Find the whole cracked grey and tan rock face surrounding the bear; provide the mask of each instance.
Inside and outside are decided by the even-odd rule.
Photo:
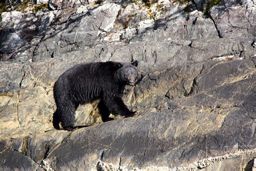
[[[255,2],[37,3],[1,14],[1,170],[255,169]],[[139,61],[138,114],[102,123],[95,101],[54,130],[58,77],[109,60]]]

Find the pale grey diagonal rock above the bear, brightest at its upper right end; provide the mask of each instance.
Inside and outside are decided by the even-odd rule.
[[[73,51],[80,46],[92,46],[98,42],[98,35],[109,32],[120,11],[120,5],[104,4],[90,12],[69,18],[61,30],[46,35],[34,51],[33,61],[53,58]],[[101,18],[101,19],[100,19]]]

